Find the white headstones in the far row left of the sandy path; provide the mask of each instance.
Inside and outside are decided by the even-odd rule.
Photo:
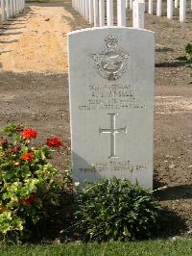
[[[25,8],[25,0],[0,0],[0,16],[1,21],[15,17],[23,12]]]

